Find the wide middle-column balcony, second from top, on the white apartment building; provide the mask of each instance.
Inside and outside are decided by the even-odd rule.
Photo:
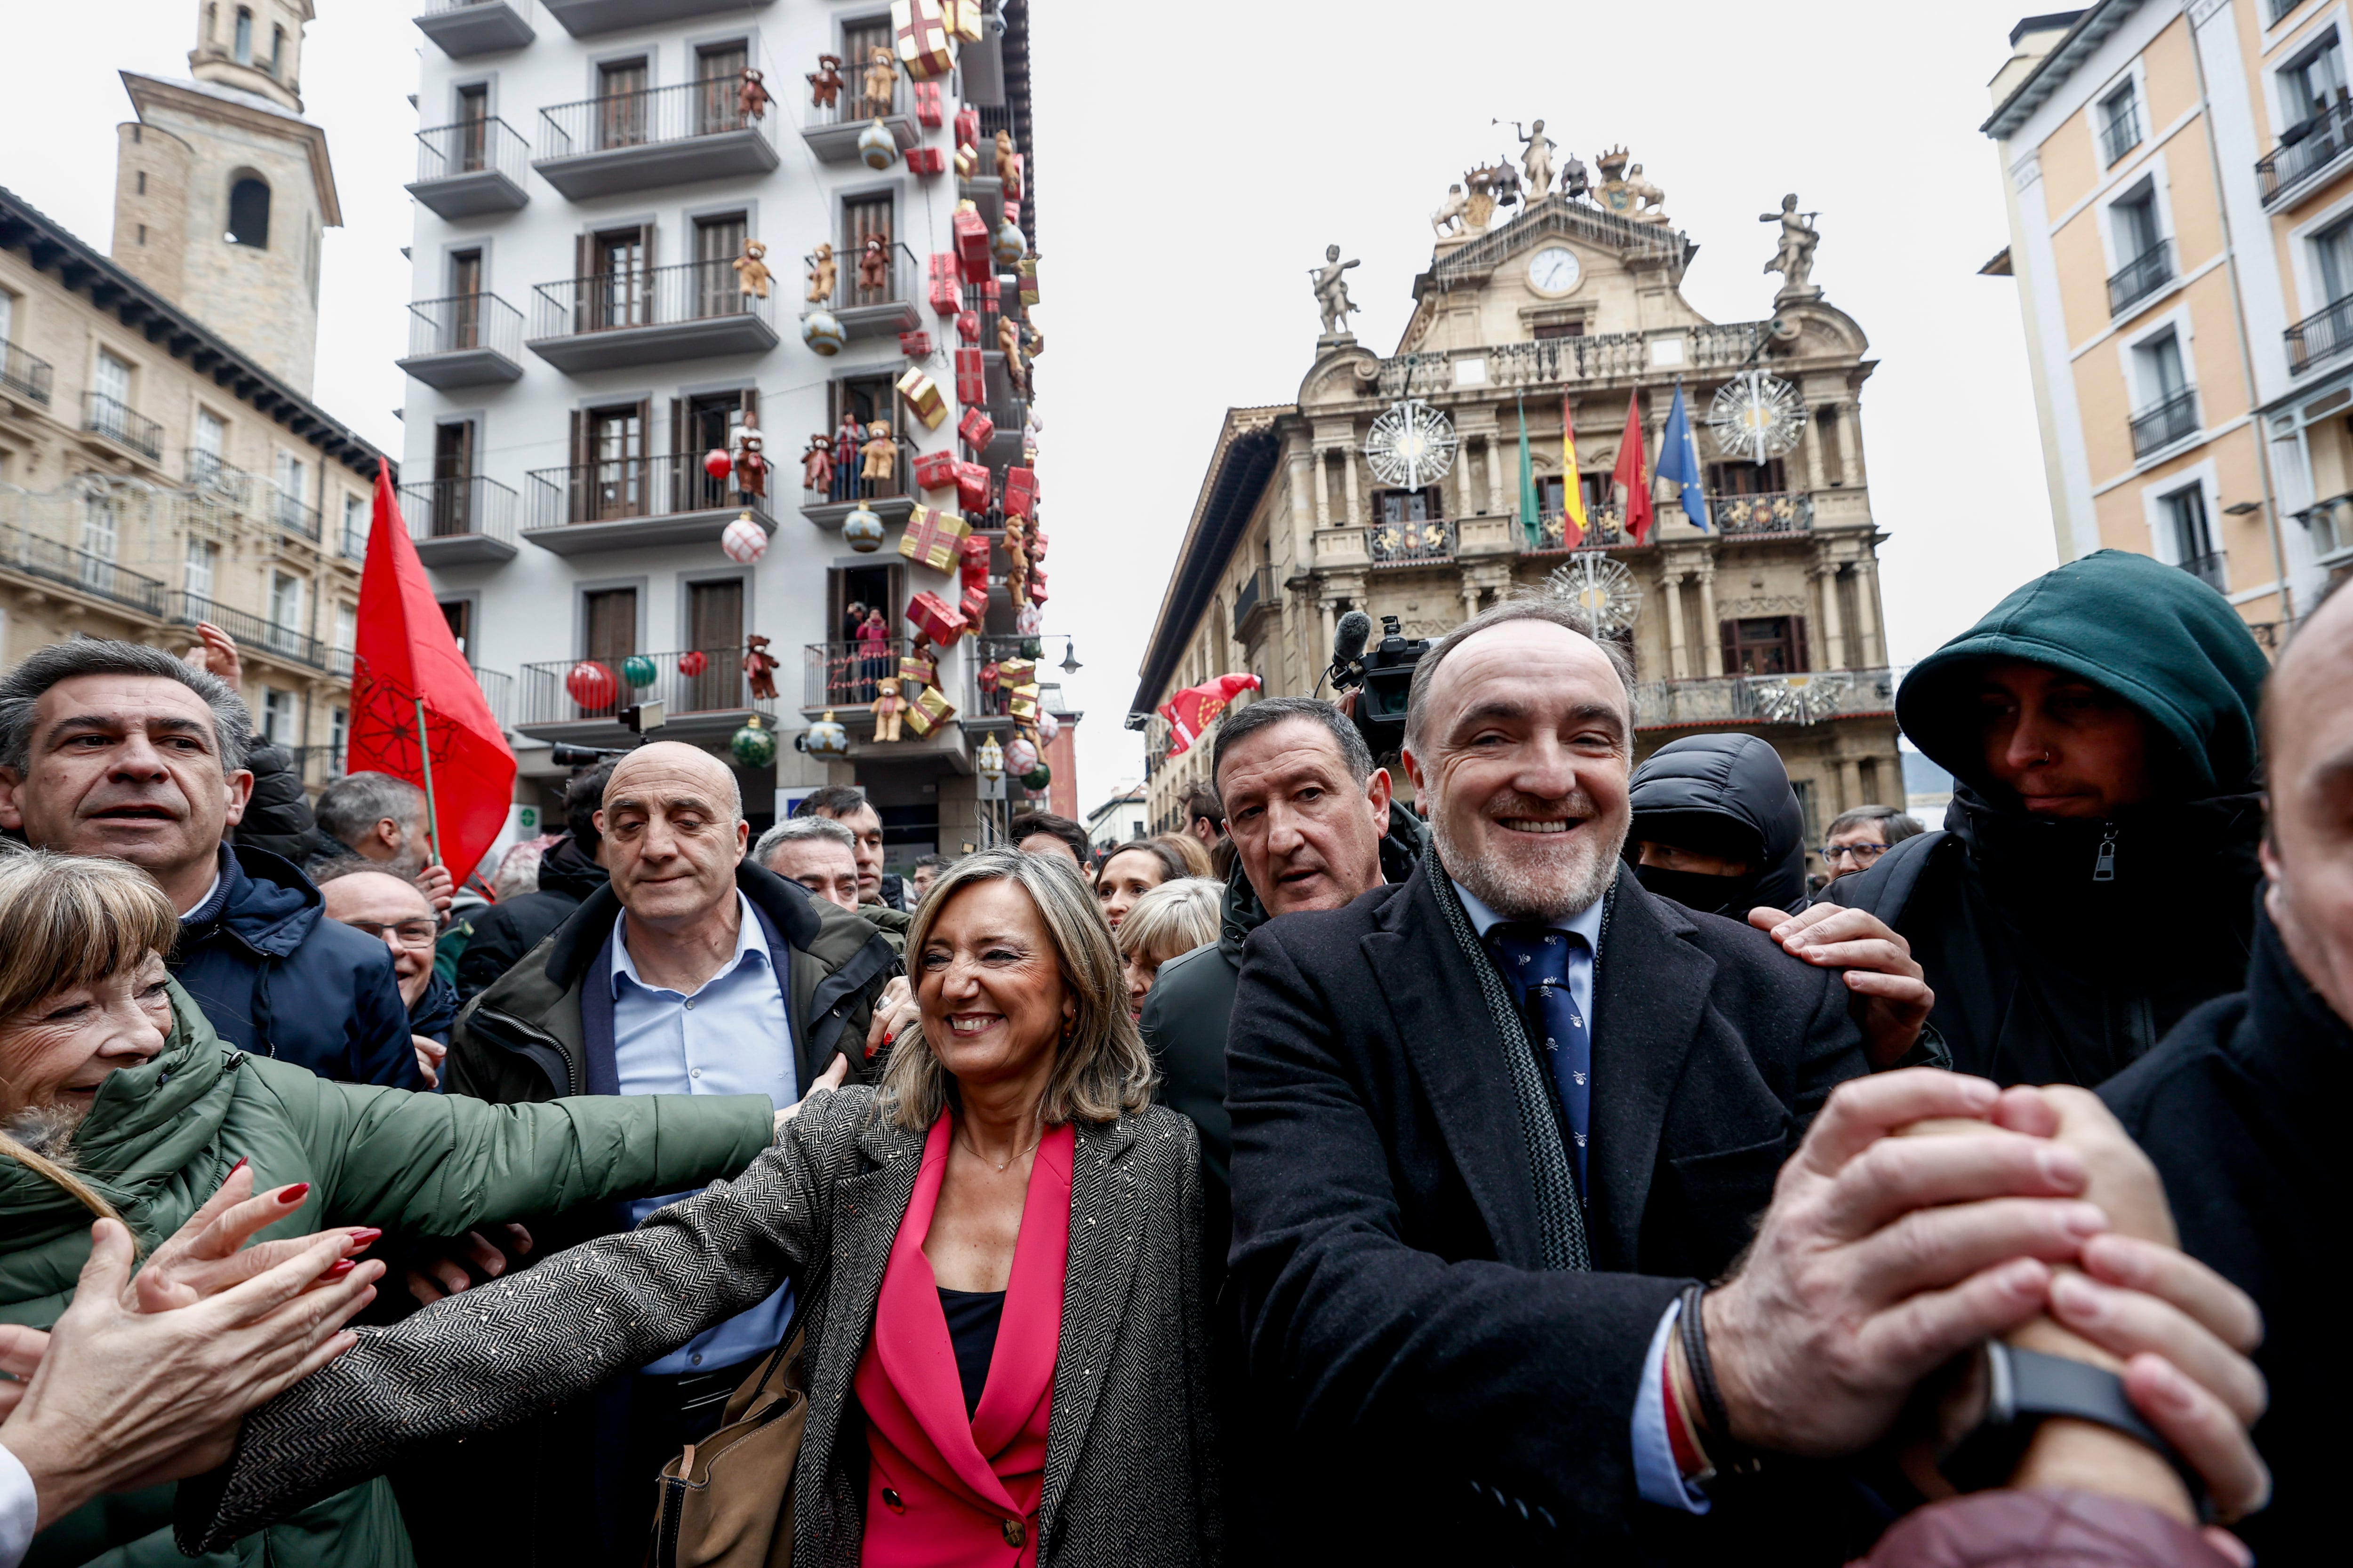
[[[574,202],[767,174],[779,162],[772,120],[746,115],[739,87],[729,73],[541,108],[532,167]]]

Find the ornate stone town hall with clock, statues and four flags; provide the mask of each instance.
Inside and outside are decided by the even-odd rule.
[[[1207,780],[1207,743],[1167,757],[1153,710],[1174,691],[1249,670],[1266,696],[1313,693],[1346,611],[1438,637],[1511,590],[1579,599],[1631,651],[1638,757],[1685,733],[1753,731],[1788,764],[1817,844],[1838,811],[1901,802],[1864,331],[1800,280],[1765,320],[1704,320],[1678,289],[1694,247],[1664,214],[1626,216],[1624,197],[1609,179],[1591,200],[1548,195],[1440,237],[1393,355],[1327,334],[1297,402],[1228,411],[1129,715],[1148,736],[1155,830],[1179,825]],[[1711,527],[1659,487],[1659,522],[1635,543],[1609,470],[1628,400],[1657,463],[1678,383],[1694,423],[1725,390],[1741,428],[1767,433],[1767,458],[1699,428]],[[1452,463],[1400,482],[1400,423],[1424,451],[1452,442]],[[1593,520],[1577,550],[1565,484]]]

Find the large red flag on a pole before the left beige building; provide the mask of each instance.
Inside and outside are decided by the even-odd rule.
[[[433,853],[459,882],[489,853],[515,799],[515,752],[449,635],[386,468],[360,571],[344,766],[421,788]]]

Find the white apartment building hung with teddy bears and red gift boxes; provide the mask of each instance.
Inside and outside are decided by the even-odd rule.
[[[896,71],[887,101],[868,75],[873,52],[894,47],[887,0],[426,0],[416,16],[402,510],[466,654],[515,672],[527,799],[546,804],[567,773],[548,745],[626,745],[621,710],[659,701],[664,738],[722,759],[753,717],[781,731],[772,769],[736,769],[755,827],[779,790],[859,783],[892,865],[974,837],[974,731],[1009,724],[984,712],[976,679],[998,642],[962,639],[941,661],[953,722],[875,741],[871,715],[885,661],[894,672],[913,632],[908,599],[958,602],[953,569],[899,552],[908,515],[929,501],[995,522],[953,489],[918,491],[918,454],[981,461],[995,487],[1024,461],[1026,395],[998,317],[1002,306],[1019,320],[1002,230],[1016,219],[1033,235],[1035,221],[1028,202],[1007,212],[995,134],[1026,165],[1026,0],[974,12],[981,38],[955,45],[955,68],[932,82]],[[826,56],[842,87],[816,103],[807,78]],[[746,71],[772,101],[746,96]],[[955,167],[965,110],[969,176]],[[965,200],[1002,280],[955,280]],[[882,263],[861,273],[871,237]],[[765,299],[744,292],[748,242],[767,249]],[[802,341],[819,244],[838,270],[833,355]],[[986,386],[967,381],[965,400],[960,313],[988,350]],[[908,369],[939,388],[936,428],[896,390]],[[967,407],[991,416],[984,449],[958,437]],[[892,477],[861,480],[852,463],[805,489],[805,447],[833,442],[845,418],[889,423]],[[748,430],[765,444],[765,496],[741,468],[706,470]],[[842,534],[859,510],[887,529],[868,552]],[[720,543],[741,515],[769,536],[755,562]],[[885,611],[885,649],[854,644],[852,604]],[[1012,632],[1002,588],[986,630]],[[746,679],[751,637],[776,661],[774,701]],[[847,731],[842,759],[793,745],[826,712]]]

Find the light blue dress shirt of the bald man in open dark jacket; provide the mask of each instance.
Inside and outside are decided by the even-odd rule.
[[[779,969],[760,938],[760,917],[751,900],[736,893],[736,950],[692,997],[638,978],[628,957],[628,914],[612,926],[612,1056],[626,1095],[767,1095],[776,1110],[800,1100],[793,1065],[793,1020],[784,1004],[788,973]],[[645,1220],[666,1204],[692,1192],[638,1199],[628,1206],[631,1222]],[[645,1366],[647,1373],[675,1375],[734,1366],[767,1354],[784,1340],[793,1319],[793,1288],[718,1328],[687,1340],[680,1349]]]

